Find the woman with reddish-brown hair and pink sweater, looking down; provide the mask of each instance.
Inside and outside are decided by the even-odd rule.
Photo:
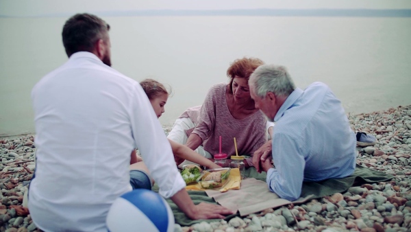
[[[234,60],[227,69],[228,84],[214,84],[201,106],[188,108],[177,119],[168,138],[209,159],[219,153],[220,136],[222,152],[228,156],[236,154],[234,137],[240,155],[253,156],[257,150],[270,152],[270,143],[266,142],[273,123],[268,123],[254,106],[248,84],[251,73],[263,64],[258,58]],[[252,166],[251,158],[245,165]]]

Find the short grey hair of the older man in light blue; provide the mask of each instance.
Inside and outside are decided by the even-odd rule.
[[[295,90],[286,67],[279,65],[261,65],[250,76],[249,86],[258,97],[264,98],[267,93],[288,96]]]

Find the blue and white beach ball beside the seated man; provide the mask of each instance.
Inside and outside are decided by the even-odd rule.
[[[134,189],[114,200],[106,225],[110,232],[174,231],[174,215],[160,194]]]

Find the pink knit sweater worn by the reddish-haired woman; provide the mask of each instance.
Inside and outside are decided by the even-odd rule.
[[[236,137],[239,155],[251,156],[266,142],[266,118],[256,111],[245,119],[235,119],[228,110],[225,91],[227,84],[214,84],[201,106],[197,126],[192,131],[203,139],[203,147],[210,154],[219,153],[219,137],[222,153],[236,155]]]

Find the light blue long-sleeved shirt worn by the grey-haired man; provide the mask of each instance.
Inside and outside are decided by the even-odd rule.
[[[356,137],[340,100],[321,82],[295,89],[274,117],[269,189],[296,200],[303,181],[343,178],[356,168]]]

